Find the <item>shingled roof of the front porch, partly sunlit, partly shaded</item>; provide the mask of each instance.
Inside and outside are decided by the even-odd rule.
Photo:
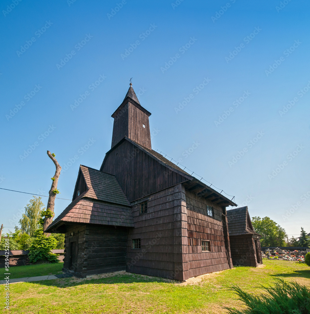
[[[67,223],[133,227],[131,204],[115,176],[80,165],[87,190],[75,198],[46,229],[57,232]]]

